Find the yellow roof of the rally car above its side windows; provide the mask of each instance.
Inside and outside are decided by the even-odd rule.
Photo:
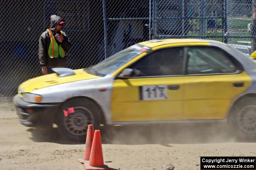
[[[174,44],[174,43],[202,43],[202,42],[206,42],[206,43],[218,43],[218,44],[224,44],[223,42],[219,42],[219,41],[214,41],[214,40],[207,40],[207,39],[154,39],[154,40],[149,40],[149,41],[145,41],[145,42],[140,42],[138,44],[140,45],[145,45],[148,46],[150,48],[159,46],[159,45],[165,45],[165,44]]]

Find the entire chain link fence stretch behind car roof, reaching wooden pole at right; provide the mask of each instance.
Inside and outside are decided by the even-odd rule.
[[[212,39],[251,54],[251,0],[157,0],[155,37]],[[169,7],[169,8],[166,8]]]

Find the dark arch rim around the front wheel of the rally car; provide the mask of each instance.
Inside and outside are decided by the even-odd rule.
[[[96,105],[98,106],[99,113],[100,113],[100,124],[104,124],[104,125],[106,124],[105,116],[104,116],[104,113],[103,113],[103,110],[102,110],[101,106],[100,106],[95,100],[93,100],[93,99],[90,98],[90,97],[86,97],[86,96],[71,97],[71,98],[65,100],[65,101],[58,107],[58,110],[60,110],[60,108],[61,108],[65,103],[67,103],[68,101],[73,100],[73,99],[85,99],[85,100],[89,100],[89,101],[93,102],[94,104],[96,104]],[[55,113],[55,115],[54,115],[54,123],[57,122],[58,110],[56,111],[56,113]]]

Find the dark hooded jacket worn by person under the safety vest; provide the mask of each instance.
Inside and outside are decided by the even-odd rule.
[[[52,31],[52,34],[54,37],[55,37],[54,29],[60,21],[64,21],[64,20],[57,15],[51,16],[50,30]],[[60,32],[58,32],[58,34],[61,35]],[[61,44],[61,47],[64,49],[65,52],[67,52],[71,48],[71,43],[68,41],[68,38],[65,32],[63,32],[63,38],[64,39],[62,40],[62,42],[59,42],[57,39],[56,39],[56,42],[58,43],[58,45]],[[48,31],[43,32],[39,38],[39,51],[38,51],[38,56],[39,56],[39,61],[41,66],[47,66],[47,67],[67,66],[66,56],[63,58],[60,56],[58,58],[50,58],[48,56],[50,41],[51,39]]]

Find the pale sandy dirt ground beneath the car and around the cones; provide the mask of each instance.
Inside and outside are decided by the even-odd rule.
[[[66,142],[56,129],[27,128],[12,103],[0,103],[0,169],[84,169],[84,143]],[[112,169],[199,170],[200,156],[256,156],[255,141],[237,142],[222,125],[115,126],[102,134],[104,163]]]

